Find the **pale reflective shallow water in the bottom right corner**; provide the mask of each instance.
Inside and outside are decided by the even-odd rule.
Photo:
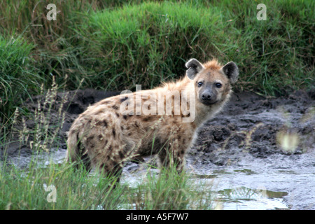
[[[211,182],[222,209],[315,209],[314,153],[265,159],[244,153],[237,165],[209,163],[193,172]]]

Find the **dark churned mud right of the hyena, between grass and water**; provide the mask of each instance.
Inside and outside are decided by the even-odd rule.
[[[304,153],[315,148],[315,100],[304,91],[288,97],[261,97],[253,92],[235,93],[222,113],[200,129],[190,155],[198,162],[228,165],[239,160],[239,152],[253,158],[274,153]],[[293,151],[283,151],[277,134],[297,135]]]

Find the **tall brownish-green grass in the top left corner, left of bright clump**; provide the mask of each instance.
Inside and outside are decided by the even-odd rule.
[[[56,20],[48,20],[48,4],[57,9]],[[18,0],[0,1],[0,34],[6,38],[23,36],[34,45],[32,57],[36,68],[45,77],[45,87],[50,87],[52,76],[57,83],[63,83],[69,74],[69,87],[76,89],[84,77],[94,76],[81,57],[86,51],[86,35],[77,32],[91,11],[113,8],[124,1],[64,1],[64,0]],[[91,87],[88,78],[85,87]],[[39,89],[39,88],[38,88]]]

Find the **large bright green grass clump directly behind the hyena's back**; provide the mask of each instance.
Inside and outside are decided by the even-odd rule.
[[[197,16],[196,16],[197,15]],[[141,3],[89,15],[92,83],[120,90],[141,83],[153,87],[183,74],[189,57],[211,57],[214,34],[221,17],[216,8],[188,3]],[[205,35],[207,34],[207,35]],[[95,78],[95,80],[93,80]]]

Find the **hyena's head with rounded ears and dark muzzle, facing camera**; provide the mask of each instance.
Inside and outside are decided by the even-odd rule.
[[[231,85],[237,81],[239,69],[234,62],[225,66],[212,60],[201,64],[197,59],[190,59],[186,63],[186,74],[193,80],[197,99],[207,106],[224,102],[231,92]]]

